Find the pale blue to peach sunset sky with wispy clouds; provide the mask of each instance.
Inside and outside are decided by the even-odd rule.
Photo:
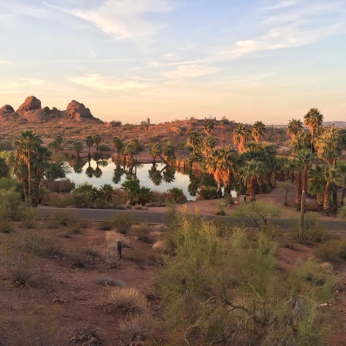
[[[346,121],[346,0],[0,0],[0,107]]]

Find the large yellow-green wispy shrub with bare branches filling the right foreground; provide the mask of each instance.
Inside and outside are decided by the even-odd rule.
[[[164,256],[156,283],[167,324],[189,344],[327,344],[319,304],[335,276],[314,258],[278,268],[270,234],[233,228],[225,237],[207,221],[185,219]]]

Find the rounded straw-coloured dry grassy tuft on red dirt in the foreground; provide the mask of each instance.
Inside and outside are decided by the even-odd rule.
[[[110,301],[123,312],[143,312],[148,307],[147,298],[134,287],[116,287],[110,293]]]

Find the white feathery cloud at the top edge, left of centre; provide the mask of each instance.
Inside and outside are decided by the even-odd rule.
[[[117,40],[134,39],[155,34],[160,25],[145,18],[148,13],[167,12],[175,8],[167,0],[107,0],[92,9],[62,9],[84,19]]]

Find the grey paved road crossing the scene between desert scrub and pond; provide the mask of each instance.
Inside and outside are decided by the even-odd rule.
[[[167,224],[166,213],[163,212],[152,212],[149,210],[116,210],[116,209],[77,209],[77,208],[38,208],[39,217],[50,218],[55,213],[68,213],[71,219],[77,220],[92,220],[92,221],[104,221],[109,220],[112,217],[122,214],[129,213],[138,222],[151,223],[151,224]],[[224,216],[206,216],[207,219],[220,218],[227,220]],[[230,219],[232,220],[232,219]],[[297,226],[298,220],[281,220],[279,225],[283,230],[293,230]],[[342,220],[326,220],[323,221],[326,225],[326,229],[346,232],[346,221]]]

